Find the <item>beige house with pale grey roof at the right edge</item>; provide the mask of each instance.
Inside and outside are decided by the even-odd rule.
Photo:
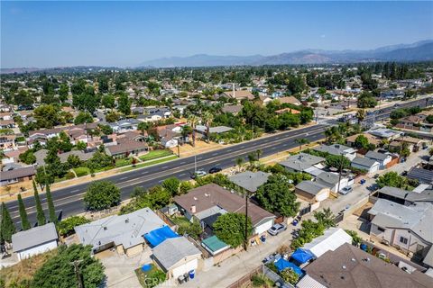
[[[378,199],[368,211],[371,220],[370,237],[397,247],[419,260],[427,255],[428,266],[433,267],[433,205],[417,202],[405,206],[385,199]]]

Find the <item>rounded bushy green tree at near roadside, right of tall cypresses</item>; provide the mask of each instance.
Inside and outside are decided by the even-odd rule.
[[[120,203],[120,190],[109,181],[97,181],[88,185],[84,202],[90,211],[101,211]]]

